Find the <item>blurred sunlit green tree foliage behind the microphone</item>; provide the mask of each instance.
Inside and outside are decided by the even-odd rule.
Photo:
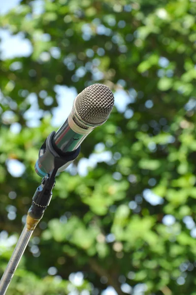
[[[33,167],[53,130],[55,85],[80,92],[103,83],[118,100],[57,178],[7,295],[98,295],[107,286],[119,295],[196,294],[195,16],[195,0],[23,0],[0,17],[33,47],[0,63],[1,274],[41,180]],[[30,93],[42,110],[37,127],[25,117]],[[110,160],[74,172],[103,151]],[[25,165],[22,177],[10,175],[10,159]]]

